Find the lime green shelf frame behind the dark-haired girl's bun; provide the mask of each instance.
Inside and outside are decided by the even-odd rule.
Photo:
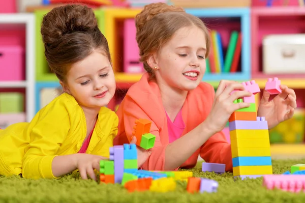
[[[37,81],[58,81],[56,75],[50,70],[45,57],[45,48],[42,42],[41,36],[41,23],[43,16],[47,14],[50,10],[41,9],[35,11],[35,60],[36,60],[36,80]],[[103,34],[105,34],[105,12],[103,10],[94,10],[98,26]]]

